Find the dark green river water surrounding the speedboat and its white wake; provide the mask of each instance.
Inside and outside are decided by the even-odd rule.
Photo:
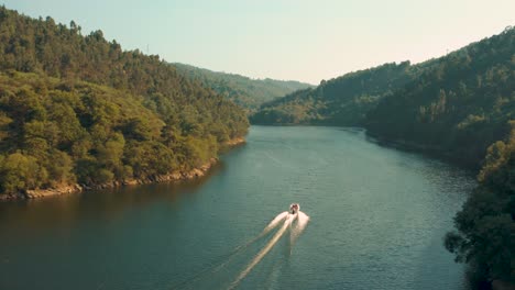
[[[202,180],[0,204],[0,289],[465,289],[442,247],[473,178],[359,131],[254,126]]]

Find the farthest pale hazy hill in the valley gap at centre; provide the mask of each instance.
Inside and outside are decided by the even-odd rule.
[[[251,79],[234,74],[217,72],[184,64],[174,64],[177,71],[190,80],[200,81],[219,94],[228,98],[248,112],[253,112],[267,101],[284,97],[296,90],[313,87],[294,80]]]

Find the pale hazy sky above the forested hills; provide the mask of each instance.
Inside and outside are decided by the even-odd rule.
[[[253,78],[318,83],[413,63],[515,25],[515,0],[0,0],[30,16],[75,20],[123,48]]]

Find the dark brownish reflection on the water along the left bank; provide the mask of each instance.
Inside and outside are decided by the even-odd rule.
[[[211,176],[224,170],[217,163],[204,176],[176,182],[128,186],[83,193],[48,197],[0,203],[0,220],[9,221],[11,228],[30,228],[28,233],[44,232],[55,227],[69,227],[88,219],[116,220],[125,210],[136,210],[156,202],[177,204],[179,197],[195,194]],[[0,224],[1,225],[1,224]],[[0,226],[1,228],[1,226]]]

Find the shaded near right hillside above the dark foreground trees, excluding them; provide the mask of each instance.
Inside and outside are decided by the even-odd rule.
[[[369,112],[369,133],[479,165],[515,115],[515,30],[436,59]]]

